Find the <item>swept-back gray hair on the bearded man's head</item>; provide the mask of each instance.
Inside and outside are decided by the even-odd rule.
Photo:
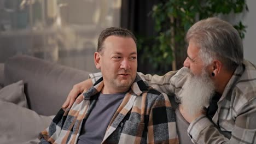
[[[214,58],[224,67],[234,70],[243,62],[243,45],[240,35],[230,23],[217,17],[196,22],[189,28],[186,41],[199,46],[199,56],[210,64]]]

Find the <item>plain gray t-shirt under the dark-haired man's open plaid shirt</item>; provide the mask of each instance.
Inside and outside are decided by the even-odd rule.
[[[101,93],[98,96],[94,109],[92,109],[82,128],[82,133],[78,137],[78,144],[102,142],[108,124],[123,101],[125,93]]]

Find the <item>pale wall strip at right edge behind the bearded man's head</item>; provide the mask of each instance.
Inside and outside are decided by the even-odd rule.
[[[246,14],[243,22],[247,26],[245,39],[243,39],[243,51],[245,59],[256,64],[256,1],[247,0],[249,13]]]

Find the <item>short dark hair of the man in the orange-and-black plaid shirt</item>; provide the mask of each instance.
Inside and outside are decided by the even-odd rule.
[[[101,32],[100,37],[98,37],[97,52],[102,52],[104,40],[110,35],[116,35],[116,36],[125,37],[125,38],[132,38],[136,44],[135,35],[128,29],[121,28],[121,27],[109,27],[104,29],[104,31]]]

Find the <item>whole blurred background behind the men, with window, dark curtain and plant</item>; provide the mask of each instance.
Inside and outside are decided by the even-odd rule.
[[[98,35],[124,27],[138,40],[138,71],[165,74],[182,67],[188,28],[209,16],[232,23],[245,58],[256,63],[255,6],[254,0],[0,0],[0,63],[24,54],[96,72]]]

